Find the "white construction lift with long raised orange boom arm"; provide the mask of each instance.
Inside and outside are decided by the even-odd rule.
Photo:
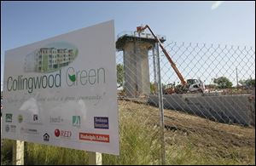
[[[159,43],[160,48],[162,49],[163,53],[166,55],[167,60],[170,62],[174,72],[176,72],[177,77],[180,79],[181,84],[175,86],[173,84],[169,84],[171,86],[167,86],[166,89],[164,89],[164,94],[186,94],[186,93],[204,93],[205,91],[205,85],[200,79],[188,79],[187,82],[183,78],[183,75],[178,71],[177,66],[171,59],[170,55],[167,53],[166,49],[160,42],[160,39],[156,37],[154,32],[151,30],[151,28],[146,25],[146,26],[137,26],[137,32],[141,33],[145,29],[147,29],[151,32],[151,34],[154,36],[154,39],[157,43]]]

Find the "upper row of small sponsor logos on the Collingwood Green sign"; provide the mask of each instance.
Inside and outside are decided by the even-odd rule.
[[[17,120],[19,123],[23,122],[23,116],[18,115]],[[38,122],[38,115],[34,114],[32,116],[33,122]],[[62,124],[64,119],[61,116],[58,117],[49,117],[49,123],[52,124]],[[13,122],[13,114],[7,113],[5,115],[5,122],[12,123]],[[72,117],[72,125],[73,127],[80,128],[81,125],[81,117],[80,116],[73,116]],[[108,126],[108,117],[94,117],[94,128],[95,129],[109,129]]]

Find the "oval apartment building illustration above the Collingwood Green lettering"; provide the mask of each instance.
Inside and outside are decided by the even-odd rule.
[[[60,45],[60,44],[59,44]],[[67,43],[65,44],[67,45]],[[70,44],[64,47],[44,47],[26,55],[25,72],[55,72],[68,66],[78,55],[78,49]]]

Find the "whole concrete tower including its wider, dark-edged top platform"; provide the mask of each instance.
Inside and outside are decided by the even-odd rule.
[[[158,36],[160,42],[166,37]],[[118,36],[116,49],[123,51],[125,94],[129,97],[150,94],[148,50],[154,49],[155,39],[148,33],[125,32]]]

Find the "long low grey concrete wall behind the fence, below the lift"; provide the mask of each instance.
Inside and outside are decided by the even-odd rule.
[[[255,125],[255,101],[250,94],[167,94],[164,107],[181,112],[189,112],[220,123]],[[158,96],[151,95],[148,102],[158,106]]]

